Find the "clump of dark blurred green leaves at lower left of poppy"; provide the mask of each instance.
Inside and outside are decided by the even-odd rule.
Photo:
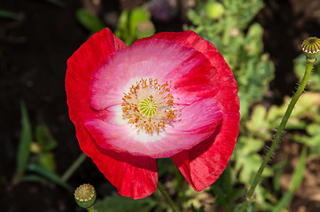
[[[31,123],[27,115],[27,107],[24,102],[21,108],[21,134],[19,150],[17,154],[16,171],[13,175],[12,184],[21,181],[31,181],[48,184],[50,180],[72,192],[71,186],[66,184],[56,173],[56,161],[52,151],[57,147],[55,140],[47,125],[35,126],[35,141]]]

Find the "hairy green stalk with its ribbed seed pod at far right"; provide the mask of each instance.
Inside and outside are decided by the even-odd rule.
[[[309,79],[309,77],[311,75],[313,65],[316,63],[316,56],[318,55],[318,52],[320,50],[320,46],[318,45],[319,41],[320,41],[320,39],[312,37],[312,38],[308,38],[307,40],[305,40],[302,43],[301,47],[302,47],[302,49],[303,49],[303,51],[304,51],[304,53],[305,53],[305,55],[307,57],[306,58],[306,60],[307,60],[306,71],[304,73],[303,78],[301,79],[300,87],[297,89],[297,92],[293,95],[293,98],[292,98],[291,102],[289,103],[289,105],[288,105],[288,107],[287,107],[287,109],[285,111],[285,116],[281,120],[281,123],[279,125],[278,130],[277,130],[277,133],[276,133],[276,135],[275,135],[275,137],[274,137],[274,139],[272,141],[272,145],[269,148],[269,151],[268,151],[267,155],[265,155],[258,172],[254,176],[254,181],[253,181],[248,193],[246,194],[246,199],[245,199],[245,202],[243,203],[242,207],[240,208],[240,212],[246,211],[248,203],[251,201],[252,197],[254,196],[255,188],[261,182],[262,172],[266,168],[266,166],[268,165],[271,156],[274,154],[274,152],[275,152],[275,150],[277,148],[277,144],[279,143],[279,140],[281,138],[281,135],[285,131],[285,125],[288,122],[289,117],[291,116],[291,113],[292,113],[292,111],[294,109],[294,106],[298,102],[298,100],[300,98],[300,95],[303,93],[305,87],[308,84],[308,79]],[[308,43],[308,48],[307,49],[305,48],[306,47],[306,43]],[[313,49],[313,50],[312,51],[308,50],[310,48]]]

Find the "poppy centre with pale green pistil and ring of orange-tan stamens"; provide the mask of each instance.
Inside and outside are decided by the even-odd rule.
[[[137,133],[160,133],[175,122],[177,110],[168,82],[160,85],[158,79],[140,79],[123,94],[122,117],[137,128]]]

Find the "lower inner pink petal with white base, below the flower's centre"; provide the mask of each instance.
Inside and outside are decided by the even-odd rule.
[[[91,137],[99,148],[152,158],[168,157],[192,148],[214,133],[222,120],[217,102],[207,99],[183,107],[183,118],[173,125],[167,125],[164,132],[137,133],[134,125],[119,121],[121,110],[117,108],[108,111],[107,117],[92,118],[85,122]]]

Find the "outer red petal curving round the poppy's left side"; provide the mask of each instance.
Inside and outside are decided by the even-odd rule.
[[[158,173],[155,160],[98,149],[83,125],[88,117],[98,114],[90,109],[89,104],[92,72],[108,55],[122,48],[126,48],[124,42],[107,28],[92,35],[67,61],[66,96],[69,116],[75,125],[82,151],[92,158],[121,195],[138,199],[150,195],[156,189]]]

